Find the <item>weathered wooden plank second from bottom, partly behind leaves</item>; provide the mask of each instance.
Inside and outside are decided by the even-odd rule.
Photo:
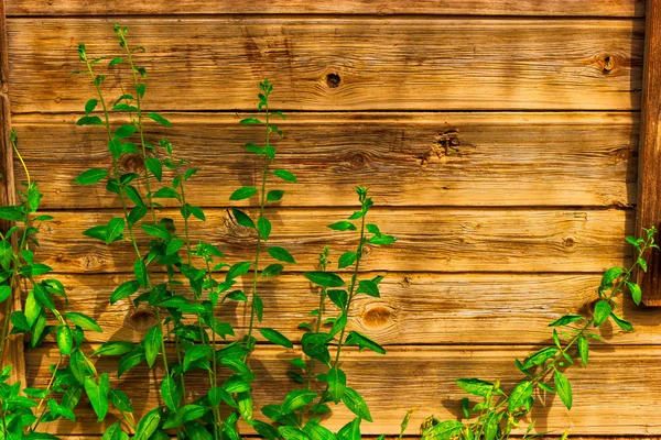
[[[371,278],[377,274],[366,274]],[[136,309],[129,300],[110,306],[108,298],[130,275],[59,275],[69,298],[69,309],[94,317],[104,333],[87,332],[89,342],[122,339],[139,342],[154,322],[148,308]],[[247,280],[248,282],[248,280]],[[548,324],[562,315],[583,309],[596,297],[600,275],[432,275],[390,273],[380,284],[381,298],[358,297],[349,327],[381,344],[530,344],[550,338]],[[250,283],[247,283],[250,284]],[[236,288],[250,292],[239,280]],[[300,322],[318,307],[318,292],[302,275],[283,275],[260,282],[264,302],[263,326],[299,341]],[[237,336],[248,322],[242,305],[228,301],[217,316],[230,322]],[[328,302],[329,316],[335,307]],[[64,309],[64,304],[62,301]],[[602,334],[618,344],[661,344],[661,323],[654,309],[624,301],[635,332],[605,326]],[[258,334],[259,337],[259,334]]]

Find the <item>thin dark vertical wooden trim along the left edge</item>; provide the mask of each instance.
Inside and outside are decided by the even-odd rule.
[[[13,152],[10,142],[11,109],[9,105],[9,58],[7,54],[7,19],[4,0],[0,0],[0,205],[15,204],[15,186],[13,174]],[[7,230],[8,224],[0,223],[0,228]],[[12,310],[21,308],[21,295],[13,295]],[[4,319],[0,310],[0,319]],[[8,317],[7,317],[8,318]],[[12,364],[11,381],[21,381],[25,384],[25,358],[23,353],[23,338],[13,336],[7,341],[2,365]]]

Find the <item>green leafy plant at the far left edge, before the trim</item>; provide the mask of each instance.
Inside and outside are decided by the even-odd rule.
[[[106,417],[109,403],[115,405],[128,425],[132,425],[131,404],[121,391],[110,387],[107,373],[98,373],[82,343],[85,331],[100,332],[99,324],[89,316],[76,311],[62,311],[54,296],[61,296],[68,308],[63,284],[47,277],[53,270],[35,261],[39,248],[39,224],[53,220],[52,216],[37,215],[42,195],[17,146],[18,136],[11,132],[11,143],[20,160],[28,182],[25,191],[19,193],[19,204],[0,208],[0,218],[15,223],[6,234],[0,234],[0,302],[4,302],[6,317],[9,317],[12,295],[15,290],[28,292],[24,310],[11,314],[2,323],[0,359],[9,334],[22,333],[30,337],[30,344],[39,346],[51,333],[59,349],[59,358],[51,365],[51,378],[46,388],[25,388],[21,394],[20,383],[9,384],[11,365],[0,373],[0,438],[4,439],[48,439],[55,438],[37,428],[42,422],[58,418],[75,420],[74,409],[85,394],[101,421]],[[12,243],[13,240],[13,243]],[[14,244],[15,243],[15,244]],[[56,324],[48,324],[54,318]],[[9,332],[10,321],[12,324]],[[63,365],[68,363],[68,366]],[[55,393],[61,393],[59,398]]]

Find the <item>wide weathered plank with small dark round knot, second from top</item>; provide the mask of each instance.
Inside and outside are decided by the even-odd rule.
[[[253,109],[275,82],[283,110],[631,110],[639,108],[640,20],[408,18],[127,19],[148,48],[145,106]],[[173,37],[176,35],[176,37]],[[91,97],[76,45],[121,54],[100,19],[11,19],[14,112],[78,111]],[[119,69],[119,67],[117,67]],[[121,75],[106,86],[120,94]],[[174,92],[176,91],[176,92]]]

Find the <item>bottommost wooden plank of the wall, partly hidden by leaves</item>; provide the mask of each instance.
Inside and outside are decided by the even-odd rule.
[[[532,349],[532,348],[530,348]],[[513,364],[516,356],[529,353],[528,348],[489,346],[392,346],[387,355],[368,352],[347,352],[343,358],[343,370],[347,372],[348,385],[361,393],[375,418],[373,424],[362,424],[364,433],[394,435],[408,407],[418,407],[408,432],[414,435],[421,420],[434,414],[440,418],[456,418],[460,414],[460,398],[465,395],[455,385],[458,377],[501,378],[505,386],[521,380]],[[29,356],[28,377],[34,386],[45,386],[48,380],[48,360],[55,361],[57,349],[40,349]],[[260,348],[254,354],[252,366],[261,377],[254,384],[254,399],[259,407],[275,403],[293,386],[285,377],[289,360],[299,355],[295,350]],[[560,435],[572,427],[575,435],[659,435],[661,421],[658,406],[661,405],[661,348],[611,346],[593,344],[587,369],[574,366],[566,370],[574,391],[574,406],[564,409],[555,396],[543,396],[545,405],[533,410],[539,431],[554,430]],[[156,363],[160,365],[160,362]],[[112,371],[113,361],[100,360],[100,371]],[[206,377],[206,376],[204,376]],[[201,393],[207,387],[199,380],[186,383],[186,389]],[[150,381],[151,387],[136,387],[136,381]],[[130,393],[137,414],[156,404],[153,373],[137,367],[121,380],[119,386]],[[626,402],[626,405],[622,403]],[[104,424],[85,405],[80,407],[77,425],[62,422],[51,425],[53,432],[99,432],[112,422],[109,417]],[[257,413],[259,414],[259,413]],[[261,415],[260,415],[261,416]],[[339,428],[349,418],[348,411],[338,408],[327,420],[332,428]]]

